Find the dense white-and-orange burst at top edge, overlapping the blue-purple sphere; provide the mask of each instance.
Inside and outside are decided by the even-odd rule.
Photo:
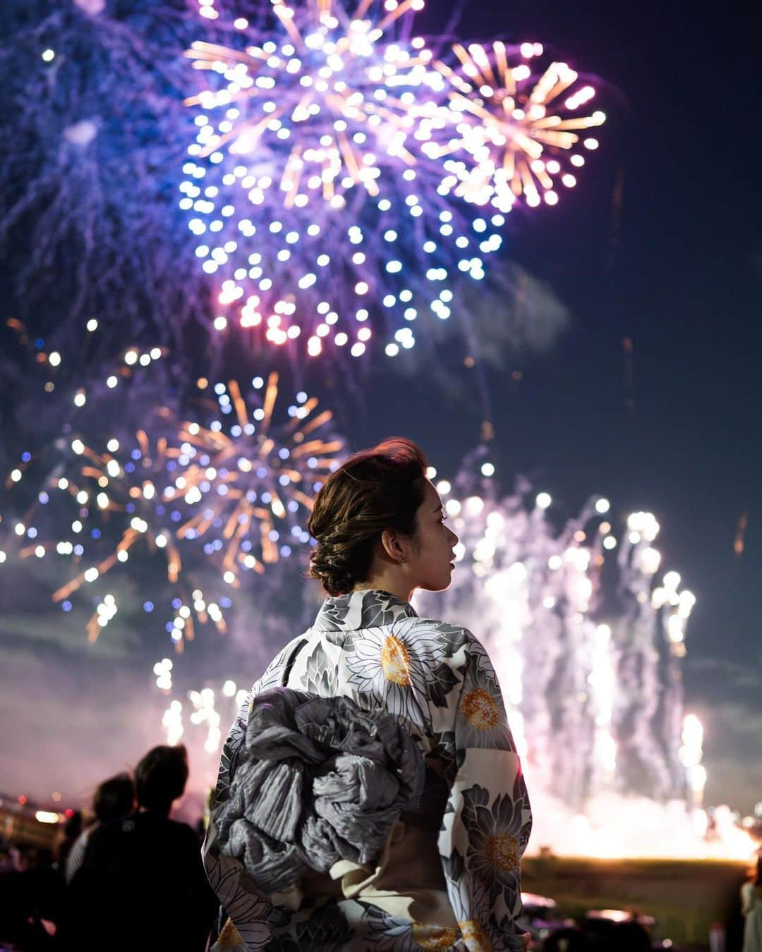
[[[274,147],[283,156],[276,188],[285,208],[303,208],[314,196],[343,208],[355,186],[377,196],[382,166],[415,164],[406,145],[415,126],[410,90],[436,79],[422,40],[412,41],[412,52],[396,44],[376,49],[422,0],[394,5],[374,22],[366,14],[375,6],[364,0],[350,16],[331,0],[296,8],[279,0],[272,11],[286,40],[280,46],[270,40],[239,51],[194,43],[186,54],[193,65],[220,72],[229,84],[186,100],[227,107],[217,129],[200,124],[197,154],[227,148],[245,157],[263,144]]]

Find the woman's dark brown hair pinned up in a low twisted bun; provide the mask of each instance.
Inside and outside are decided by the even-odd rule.
[[[426,492],[426,456],[420,446],[392,437],[354,453],[315,496],[310,518],[317,545],[310,576],[329,595],[342,595],[371,571],[384,529],[415,534],[415,513]]]

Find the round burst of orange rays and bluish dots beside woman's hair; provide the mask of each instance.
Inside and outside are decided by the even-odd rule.
[[[267,384],[255,377],[246,396],[235,381],[213,390],[219,416],[181,427],[181,469],[164,497],[187,516],[178,538],[203,540],[225,581],[239,585],[241,570],[262,572],[309,544],[311,494],[338,466],[343,442],[326,433],[331,411],[317,412],[304,392],[278,418],[276,373]]]

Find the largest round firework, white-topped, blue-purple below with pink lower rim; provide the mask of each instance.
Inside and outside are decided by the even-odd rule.
[[[423,4],[379,6],[277,3],[245,50],[189,51],[220,87],[188,100],[198,133],[180,184],[218,329],[232,314],[312,357],[329,343],[359,357],[381,336],[394,356],[501,246],[502,214],[475,217],[439,188],[421,148],[450,114],[431,51],[408,39]]]

